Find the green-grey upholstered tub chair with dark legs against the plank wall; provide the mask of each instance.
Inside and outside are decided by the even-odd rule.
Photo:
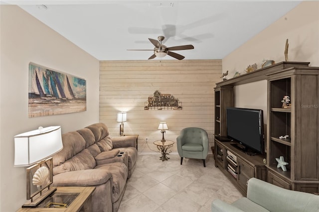
[[[209,143],[207,132],[198,127],[187,127],[180,131],[177,141],[177,151],[180,156],[180,165],[183,158],[202,159],[204,167],[208,154]]]

